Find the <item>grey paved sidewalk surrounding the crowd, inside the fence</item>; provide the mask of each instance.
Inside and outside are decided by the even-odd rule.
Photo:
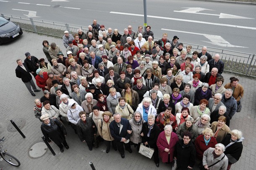
[[[68,136],[66,137],[70,149],[64,149],[61,153],[55,144],[51,144],[56,155],[53,156],[48,150],[39,159],[31,159],[28,156],[29,147],[37,141],[42,141],[40,121],[34,117],[34,99],[41,98],[42,91],[36,93],[36,97],[30,95],[24,83],[15,75],[17,67],[16,59],[24,61],[25,52],[38,59],[46,58],[42,51],[42,41],[48,40],[55,42],[65,52],[62,39],[55,39],[50,36],[40,36],[24,31],[20,39],[0,46],[2,54],[1,72],[1,92],[0,92],[0,137],[7,138],[3,142],[3,149],[8,149],[8,153],[20,160],[20,167],[13,167],[5,161],[0,161],[0,168],[3,170],[90,170],[89,162],[92,161],[97,170],[147,170],[158,169],[152,160],[136,152],[132,147],[133,153],[125,152],[125,159],[120,157],[119,152],[111,149],[108,154],[105,152],[105,145],[93,148],[89,151],[86,144],[81,143],[77,135],[74,134],[70,126],[66,125]],[[4,57],[5,56],[5,57]],[[230,73],[223,74],[225,83],[229,82],[229,77],[236,76]],[[256,90],[255,79],[248,77],[238,77],[239,83],[245,88],[243,108],[240,113],[236,113],[230,122],[230,129],[240,129],[243,131],[245,140],[243,142],[243,153],[240,160],[232,165],[232,170],[252,170],[256,167]],[[26,125],[21,130],[26,135],[23,139],[18,132],[7,130],[11,119],[25,118]],[[170,165],[160,162],[161,170],[170,170]]]

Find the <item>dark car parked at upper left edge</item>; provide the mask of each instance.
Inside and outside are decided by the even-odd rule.
[[[13,41],[23,33],[21,27],[10,21],[10,18],[5,19],[0,17],[0,45]]]

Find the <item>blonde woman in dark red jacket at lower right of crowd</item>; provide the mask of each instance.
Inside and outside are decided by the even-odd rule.
[[[202,134],[200,134],[195,141],[195,147],[196,147],[196,163],[199,164],[200,167],[202,167],[202,160],[204,151],[210,147],[214,147],[217,144],[217,141],[214,137],[212,137],[213,132],[210,128],[205,128],[202,131]]]

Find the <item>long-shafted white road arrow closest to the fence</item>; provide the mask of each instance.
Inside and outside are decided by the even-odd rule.
[[[172,29],[165,29],[165,28],[162,28],[161,30],[201,35],[201,36],[204,36],[204,37],[206,37],[207,39],[210,40],[210,41],[203,41],[203,42],[214,44],[214,45],[217,45],[217,46],[248,48],[246,46],[232,45],[228,41],[223,39],[221,36],[217,36],[217,35],[210,35],[210,34],[205,34],[205,33],[193,33],[193,32],[179,31],[179,30],[172,30]]]

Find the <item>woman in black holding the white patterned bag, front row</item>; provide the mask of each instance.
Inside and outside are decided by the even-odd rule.
[[[160,133],[160,129],[157,126],[157,124],[155,124],[154,122],[155,122],[155,115],[152,115],[152,114],[146,115],[146,122],[142,126],[141,136],[142,136],[142,142],[146,147],[154,148],[154,154],[153,154],[154,162],[156,166],[159,167],[157,137]]]

